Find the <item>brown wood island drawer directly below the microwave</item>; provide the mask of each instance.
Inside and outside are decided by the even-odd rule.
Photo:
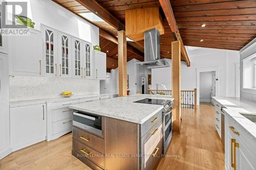
[[[73,138],[101,153],[104,153],[104,139],[98,136],[73,127]]]

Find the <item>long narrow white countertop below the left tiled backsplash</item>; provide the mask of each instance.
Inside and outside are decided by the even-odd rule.
[[[44,103],[56,103],[56,102],[88,99],[88,98],[97,98],[97,97],[105,96],[105,95],[110,95],[110,94],[84,94],[84,95],[73,95],[70,98],[63,98],[62,96],[59,96],[57,98],[12,101],[12,102],[10,102],[10,107],[19,107],[19,106],[37,105],[37,104],[44,104]]]

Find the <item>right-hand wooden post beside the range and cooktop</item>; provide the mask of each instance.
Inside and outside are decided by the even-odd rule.
[[[181,129],[181,88],[180,88],[181,43],[172,42],[172,85],[173,85],[173,130],[180,133]]]

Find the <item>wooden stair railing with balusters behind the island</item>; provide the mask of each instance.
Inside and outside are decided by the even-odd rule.
[[[172,95],[172,90],[153,90],[148,89],[148,94]],[[197,89],[181,90],[181,107],[183,108],[197,108]]]

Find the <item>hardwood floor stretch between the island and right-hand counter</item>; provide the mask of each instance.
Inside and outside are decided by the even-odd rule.
[[[173,133],[168,157],[161,159],[157,169],[225,169],[221,139],[214,127],[214,106],[202,103],[196,111],[182,108],[181,117],[181,133]]]

